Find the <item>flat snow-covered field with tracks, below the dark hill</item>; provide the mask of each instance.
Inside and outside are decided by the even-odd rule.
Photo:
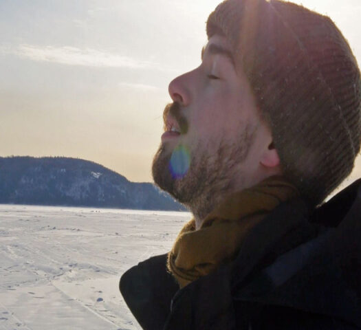
[[[185,212],[0,205],[0,329],[140,329],[120,275],[167,252]]]

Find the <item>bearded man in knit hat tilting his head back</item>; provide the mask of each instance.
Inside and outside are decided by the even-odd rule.
[[[361,329],[360,70],[328,17],[226,0],[169,85],[153,162],[188,206],[167,255],[120,290],[144,329]]]

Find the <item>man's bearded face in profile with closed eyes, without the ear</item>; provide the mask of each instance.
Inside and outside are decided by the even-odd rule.
[[[165,133],[153,160],[153,178],[182,203],[247,184],[256,166],[261,120],[230,45],[212,36],[199,67],[169,85]],[[245,188],[245,187],[244,187]]]

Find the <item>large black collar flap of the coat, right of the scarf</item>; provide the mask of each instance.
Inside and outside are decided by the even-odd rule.
[[[361,179],[311,214],[319,235],[278,256],[236,299],[338,317],[361,327]]]

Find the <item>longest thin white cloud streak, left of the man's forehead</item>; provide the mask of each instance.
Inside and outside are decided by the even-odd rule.
[[[9,52],[9,51],[8,51]],[[131,57],[101,52],[87,48],[55,47],[37,45],[19,45],[16,50],[10,51],[21,58],[32,61],[61,63],[65,65],[83,65],[88,67],[125,67],[130,69],[157,68],[158,63],[139,61]]]

